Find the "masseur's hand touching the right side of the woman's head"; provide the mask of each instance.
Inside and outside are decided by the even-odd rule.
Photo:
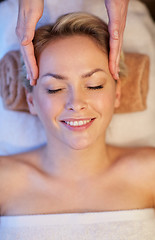
[[[119,60],[129,0],[105,0],[109,16],[110,33],[109,69],[114,79],[119,79]]]

